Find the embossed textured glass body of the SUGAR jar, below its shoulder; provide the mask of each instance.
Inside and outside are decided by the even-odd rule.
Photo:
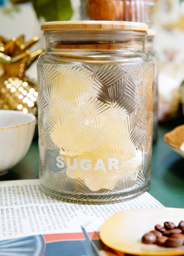
[[[83,203],[121,201],[146,190],[152,87],[152,63],[38,63],[42,189]]]

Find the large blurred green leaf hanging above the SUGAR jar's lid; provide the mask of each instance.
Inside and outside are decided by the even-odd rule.
[[[32,0],[38,18],[46,21],[70,20],[73,10],[70,0]]]

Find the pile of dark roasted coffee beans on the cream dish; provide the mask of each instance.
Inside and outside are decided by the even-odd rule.
[[[142,236],[142,243],[157,244],[165,247],[178,247],[184,244],[184,221],[178,226],[173,222],[166,221],[164,226],[155,225],[155,229]]]

